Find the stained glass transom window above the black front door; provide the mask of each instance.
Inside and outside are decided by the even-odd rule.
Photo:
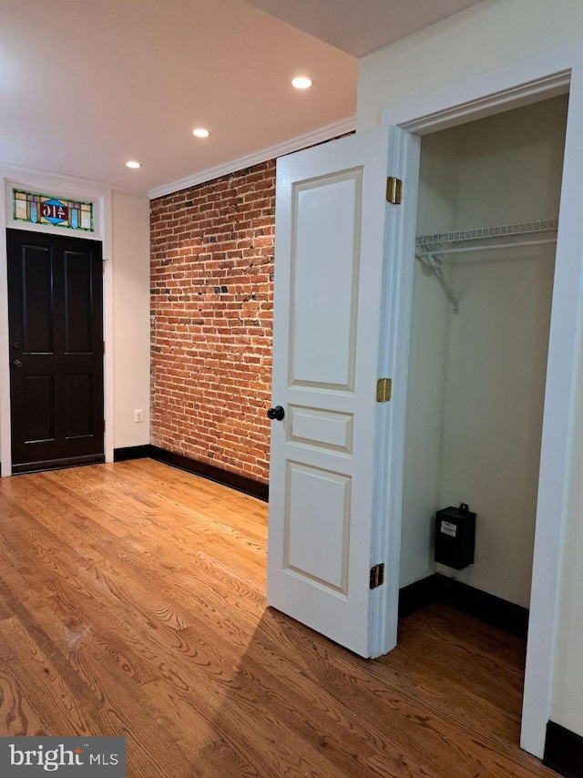
[[[69,230],[93,231],[93,203],[13,189],[13,216],[31,224],[53,224]]]

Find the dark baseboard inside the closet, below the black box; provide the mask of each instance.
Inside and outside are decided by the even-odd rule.
[[[444,605],[485,621],[498,630],[517,635],[523,640],[527,638],[527,608],[439,573],[416,581],[399,591],[399,618],[409,616],[432,602],[443,602]]]

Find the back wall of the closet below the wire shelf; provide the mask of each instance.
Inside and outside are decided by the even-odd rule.
[[[448,343],[441,507],[476,511],[475,564],[437,572],[524,607],[537,514],[554,253],[458,256]]]

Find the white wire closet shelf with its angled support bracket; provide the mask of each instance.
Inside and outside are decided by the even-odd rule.
[[[422,260],[435,271],[447,299],[454,306],[454,312],[459,313],[459,300],[447,281],[442,264],[446,254],[468,253],[470,251],[492,251],[495,249],[513,249],[519,246],[542,246],[556,243],[557,237],[536,240],[524,240],[523,236],[537,233],[557,232],[558,217],[537,219],[532,221],[517,221],[512,224],[496,224],[490,227],[473,227],[469,230],[453,230],[451,232],[435,232],[433,235],[418,235],[415,239],[415,257]],[[510,242],[500,242],[500,238],[519,238]],[[490,240],[495,239],[495,240]],[[487,241],[480,243],[476,241]],[[459,243],[472,245],[459,246]]]

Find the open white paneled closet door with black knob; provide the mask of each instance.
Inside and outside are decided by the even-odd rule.
[[[285,415],[271,426],[268,602],[362,656],[370,571],[384,561],[374,435],[395,131],[292,154],[277,171],[272,403]]]

